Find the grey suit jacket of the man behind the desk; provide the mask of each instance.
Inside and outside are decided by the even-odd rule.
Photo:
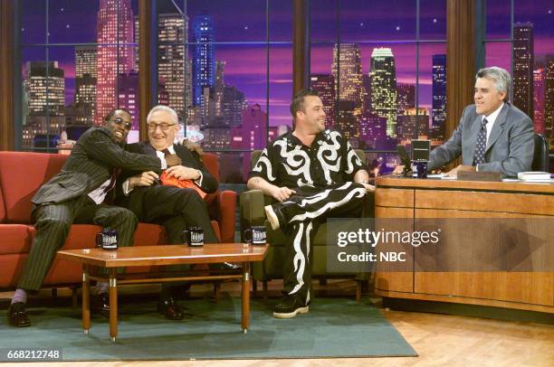
[[[475,105],[464,108],[452,137],[431,152],[428,169],[442,167],[459,155],[462,155],[463,165],[473,165],[481,120],[482,115],[477,115]],[[534,150],[533,122],[519,108],[504,103],[487,141],[486,163],[480,164],[478,170],[517,176],[519,172],[530,171]]]

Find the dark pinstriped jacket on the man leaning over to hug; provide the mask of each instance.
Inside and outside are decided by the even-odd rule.
[[[161,172],[158,157],[126,152],[111,139],[107,127],[91,127],[77,140],[62,172],[43,184],[34,204],[64,202],[91,193],[106,182],[114,168]]]

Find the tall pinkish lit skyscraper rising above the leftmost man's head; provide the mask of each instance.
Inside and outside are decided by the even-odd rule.
[[[96,124],[116,107],[116,82],[120,73],[135,70],[134,23],[130,0],[100,0],[97,17],[98,75]],[[111,45],[108,45],[111,43]],[[112,45],[118,43],[117,46]]]

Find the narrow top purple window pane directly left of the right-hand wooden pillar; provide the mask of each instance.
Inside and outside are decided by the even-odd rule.
[[[446,40],[446,0],[419,0],[419,39]]]

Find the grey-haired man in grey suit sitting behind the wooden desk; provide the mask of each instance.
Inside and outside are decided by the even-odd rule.
[[[474,105],[463,109],[453,135],[430,155],[429,170],[446,165],[462,155],[458,171],[500,172],[517,176],[529,171],[533,159],[533,123],[508,101],[511,77],[498,67],[485,68],[475,77]],[[401,172],[403,167],[396,167]]]

